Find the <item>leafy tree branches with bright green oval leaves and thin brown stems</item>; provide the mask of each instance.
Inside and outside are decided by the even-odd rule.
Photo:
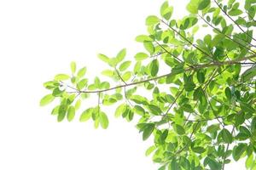
[[[134,59],[125,48],[98,54],[108,68],[94,80],[72,62],[70,74],[44,83],[50,92],[40,105],[58,99],[51,114],[71,122],[95,95],[79,121],[104,129],[109,106],[127,122],[138,116],[142,139],[154,138],[146,155],[159,170],[218,170],[243,157],[256,169],[256,1],[190,0],[180,19],[170,4],[147,17],[148,34],[136,37],[144,51]]]

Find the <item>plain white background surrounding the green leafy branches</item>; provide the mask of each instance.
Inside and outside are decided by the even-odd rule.
[[[178,2],[178,3],[177,3]],[[181,16],[186,1],[172,1]],[[0,169],[102,170],[159,167],[144,151],[136,122],[113,119],[108,130],[91,123],[57,123],[51,107],[40,108],[43,82],[69,71],[74,60],[94,77],[107,65],[97,53],[129,57],[142,48],[148,14],[159,14],[160,0],[0,0]],[[84,104],[86,105],[86,104]],[[240,167],[239,167],[240,166]],[[244,169],[243,163],[227,169]]]

